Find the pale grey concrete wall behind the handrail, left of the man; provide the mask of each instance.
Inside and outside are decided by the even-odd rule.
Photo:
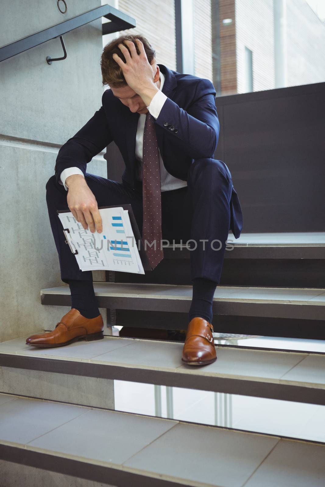
[[[100,6],[52,0],[2,1],[0,46]],[[0,341],[51,329],[70,309],[42,306],[40,289],[62,285],[48,220],[45,184],[57,152],[101,106],[101,19],[63,36],[67,58],[52,39],[0,65]],[[99,154],[88,170],[106,176]],[[96,272],[95,280],[104,280]],[[106,318],[105,310],[100,310]]]

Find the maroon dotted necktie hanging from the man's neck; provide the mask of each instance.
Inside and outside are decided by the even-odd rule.
[[[146,113],[143,132],[142,156],[142,197],[143,197],[143,226],[142,240],[151,267],[164,258],[161,245],[161,186],[159,150],[154,128],[154,117]],[[145,243],[145,241],[152,246]]]

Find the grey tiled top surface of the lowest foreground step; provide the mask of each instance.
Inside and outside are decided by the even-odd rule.
[[[194,485],[324,485],[323,445],[33,399],[3,401],[0,395],[0,442],[25,450]]]

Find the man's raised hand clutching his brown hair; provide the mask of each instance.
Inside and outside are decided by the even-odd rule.
[[[140,54],[136,52],[134,42],[125,39],[123,43],[118,44],[118,48],[126,62],[123,62],[117,54],[113,54],[113,59],[121,67],[128,86],[141,96],[146,106],[149,106],[159,89],[153,81],[155,73],[148,61],[143,43],[139,39],[135,39],[135,42]]]

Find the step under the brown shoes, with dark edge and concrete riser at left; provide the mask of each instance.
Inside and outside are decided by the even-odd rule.
[[[105,337],[36,348],[0,344],[0,392],[112,408],[114,380],[325,405],[325,354],[217,346],[217,360],[181,361],[183,343]],[[81,393],[82,391],[82,393]]]

